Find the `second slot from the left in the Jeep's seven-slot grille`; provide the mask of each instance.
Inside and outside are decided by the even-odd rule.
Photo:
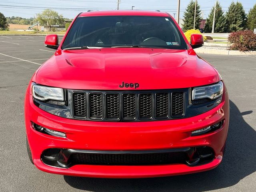
[[[101,93],[90,93],[89,94],[89,110],[90,118],[102,119],[102,94]]]

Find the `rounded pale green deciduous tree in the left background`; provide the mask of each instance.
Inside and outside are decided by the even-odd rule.
[[[64,19],[62,15],[59,15],[58,12],[46,9],[42,13],[39,13],[37,19],[41,25],[49,26],[49,30],[53,25],[62,25],[64,26]]]

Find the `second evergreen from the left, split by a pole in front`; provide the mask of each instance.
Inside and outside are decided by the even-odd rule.
[[[220,3],[217,1],[216,3],[216,11],[215,11],[215,24],[214,24],[214,32],[216,33],[224,33],[226,32],[226,18],[223,14],[222,7]],[[206,23],[204,26],[204,31],[206,33],[212,32],[212,23],[213,23],[213,16],[214,16],[214,6],[206,19]]]

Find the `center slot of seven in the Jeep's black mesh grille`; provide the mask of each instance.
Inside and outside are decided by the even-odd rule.
[[[136,96],[135,94],[123,94],[123,118],[125,120],[134,120],[136,118]]]

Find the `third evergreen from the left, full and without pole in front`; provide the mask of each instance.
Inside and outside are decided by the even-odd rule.
[[[246,14],[240,2],[232,2],[226,13],[228,32],[240,31],[246,28]]]

